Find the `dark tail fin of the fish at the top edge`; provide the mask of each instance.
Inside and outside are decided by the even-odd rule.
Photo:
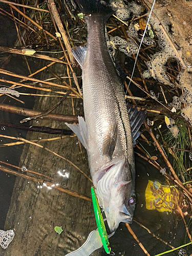
[[[84,14],[101,14],[108,19],[115,12],[110,0],[76,0],[76,2]]]

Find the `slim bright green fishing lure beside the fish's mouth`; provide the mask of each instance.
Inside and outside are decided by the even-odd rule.
[[[111,251],[111,247],[108,240],[108,234],[106,233],[106,228],[104,225],[103,217],[101,214],[99,203],[97,201],[94,187],[91,187],[91,196],[92,196],[93,209],[94,209],[95,219],[97,223],[97,228],[99,231],[99,236],[101,238],[101,242],[103,244],[105,252],[109,254]]]

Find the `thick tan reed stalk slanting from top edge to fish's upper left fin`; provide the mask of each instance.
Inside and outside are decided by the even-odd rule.
[[[51,9],[51,16],[52,16],[52,19],[55,20],[55,23],[57,24],[57,27],[59,29],[59,32],[62,36],[62,39],[64,41],[64,44],[65,44],[65,47],[66,47],[66,50],[67,50],[67,53],[68,53],[68,56],[69,56],[69,59],[71,61],[71,64],[72,66],[75,65],[75,59],[73,57],[73,54],[71,52],[71,46],[70,46],[70,43],[69,43],[69,40],[68,40],[68,37],[66,35],[66,31],[65,29],[63,28],[63,25],[62,25],[62,22],[61,22],[61,19],[60,19],[60,16],[58,14],[58,11],[57,11],[57,8],[55,6],[55,2],[54,0],[48,0],[48,4],[49,4],[49,7]]]

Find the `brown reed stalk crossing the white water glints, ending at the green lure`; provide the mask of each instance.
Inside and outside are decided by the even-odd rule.
[[[79,194],[79,193],[77,193],[75,191],[69,190],[67,188],[63,188],[63,187],[60,187],[60,186],[55,186],[54,183],[51,183],[51,182],[48,182],[48,181],[45,182],[44,180],[37,179],[37,178],[31,177],[31,176],[26,175],[26,174],[20,174],[20,173],[14,172],[13,170],[11,170],[11,169],[9,169],[7,167],[4,167],[2,165],[0,166],[0,170],[2,170],[3,172],[6,172],[6,173],[9,173],[9,174],[12,174],[12,175],[15,175],[15,176],[18,176],[18,177],[21,177],[21,178],[33,181],[33,182],[37,182],[39,184],[44,184],[45,183],[46,185],[51,186],[52,188],[58,189],[58,190],[66,193],[66,194],[69,194],[71,196],[78,197],[78,198],[87,200],[89,202],[92,202],[91,198],[86,197],[86,196],[84,196],[82,194]]]

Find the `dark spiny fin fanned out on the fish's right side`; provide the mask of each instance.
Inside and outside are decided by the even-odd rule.
[[[132,130],[133,145],[136,145],[136,139],[141,135],[139,131],[142,123],[144,122],[147,113],[145,110],[138,111],[136,106],[127,104],[127,109],[130,117],[130,125]]]

